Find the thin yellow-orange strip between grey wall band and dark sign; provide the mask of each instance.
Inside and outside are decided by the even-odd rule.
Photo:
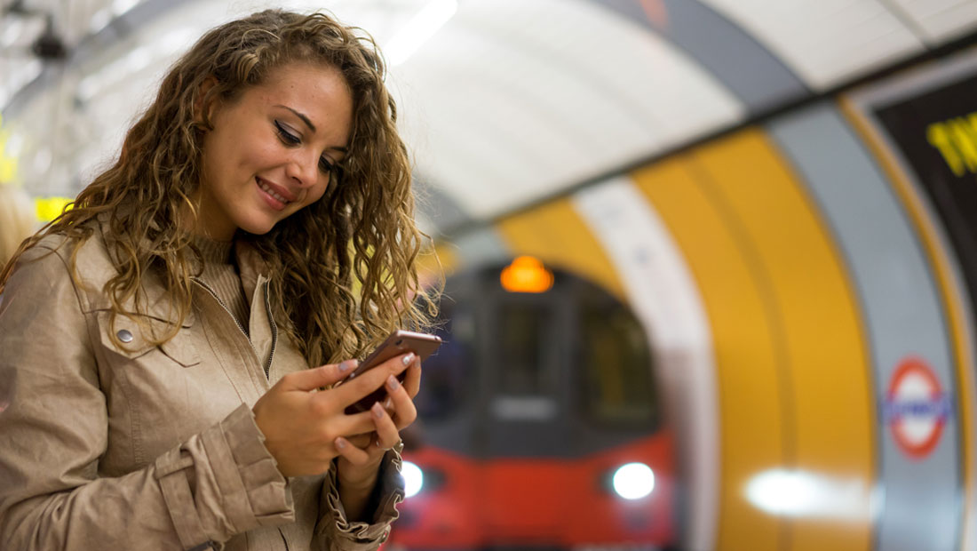
[[[899,196],[900,202],[906,206],[916,233],[921,237],[926,256],[936,274],[940,294],[946,307],[947,322],[951,328],[956,355],[956,401],[960,407],[960,447],[963,450],[964,519],[970,519],[977,514],[974,511],[974,379],[971,371],[973,369],[973,350],[968,338],[971,332],[964,312],[963,294],[950,265],[949,258],[952,253],[941,244],[940,237],[926,213],[926,208],[916,194],[913,183],[899,168],[899,163],[891,151],[882,143],[871,122],[848,98],[842,98],[839,103],[842,112],[868,145],[889,181],[892,182],[893,189]],[[963,527],[960,548],[969,550],[977,544],[977,533],[974,533],[973,525],[970,522],[963,523]]]

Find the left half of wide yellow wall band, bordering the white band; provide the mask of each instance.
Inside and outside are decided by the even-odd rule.
[[[744,251],[748,243],[730,231],[688,165],[688,157],[673,157],[631,177],[682,250],[709,318],[721,434],[716,547],[777,549],[777,520],[744,493],[751,477],[784,461],[771,320]]]

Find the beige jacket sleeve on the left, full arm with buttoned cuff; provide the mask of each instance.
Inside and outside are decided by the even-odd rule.
[[[5,548],[219,547],[292,521],[291,493],[243,404],[144,469],[98,476],[108,414],[81,304],[63,258],[39,247],[0,295]]]

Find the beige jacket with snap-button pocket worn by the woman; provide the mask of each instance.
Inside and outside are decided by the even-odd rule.
[[[53,252],[53,254],[51,254]],[[248,334],[194,282],[192,314],[162,346],[132,319],[108,322],[114,273],[99,231],[68,273],[46,237],[0,296],[0,549],[373,549],[403,499],[388,453],[374,522],[348,523],[330,473],[286,480],[251,407],[307,368],[270,315],[253,250],[235,249],[251,304]],[[171,316],[149,279],[153,327]],[[129,350],[112,344],[114,332]],[[208,545],[209,544],[209,545]]]

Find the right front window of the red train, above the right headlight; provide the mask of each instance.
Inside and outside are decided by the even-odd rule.
[[[599,423],[654,423],[652,358],[641,323],[620,304],[581,304],[583,408]]]

